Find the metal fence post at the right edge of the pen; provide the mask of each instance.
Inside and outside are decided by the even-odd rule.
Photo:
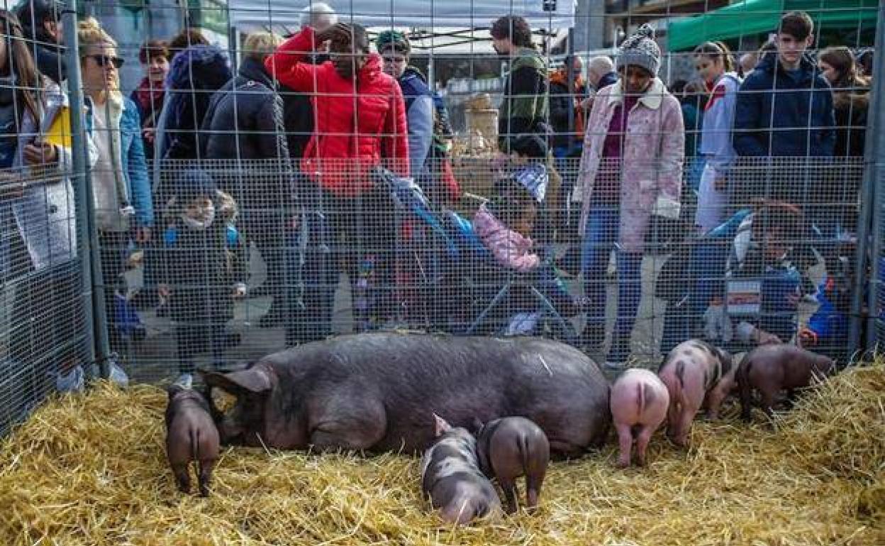
[[[861,189],[860,218],[858,219],[858,252],[855,261],[854,294],[851,301],[851,328],[849,337],[850,353],[854,354],[860,347],[861,328],[866,327],[866,342],[872,349],[875,344],[876,290],[874,289],[879,255],[881,253],[881,237],[878,229],[881,225],[881,204],[876,199],[883,198],[885,188],[877,188],[881,184],[881,173],[885,173],[885,4],[879,5],[879,16],[876,20],[876,55],[873,56],[873,89],[869,110],[873,115],[867,120],[866,150],[864,158],[864,182]],[[866,260],[870,260],[869,276],[866,275]],[[867,294],[868,315],[866,325],[863,324],[861,311],[864,304],[864,290]]]

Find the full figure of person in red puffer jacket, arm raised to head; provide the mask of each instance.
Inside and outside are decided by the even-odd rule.
[[[312,51],[326,42],[330,60],[312,65]],[[310,211],[300,271],[304,294],[290,289],[289,345],[331,333],[340,264],[351,280],[373,279],[372,309],[365,311],[371,319],[383,321],[394,311],[395,213],[374,173],[383,166],[409,176],[409,142],[403,93],[381,65],[381,57],[369,53],[366,29],[343,23],[320,33],[304,27],[265,61],[277,81],[311,95],[314,108],[314,133],[301,162],[309,181],[299,188]],[[297,261],[289,258],[289,278],[299,273]],[[371,273],[358,271],[358,264],[362,270],[370,264]],[[358,324],[375,322],[355,318]]]

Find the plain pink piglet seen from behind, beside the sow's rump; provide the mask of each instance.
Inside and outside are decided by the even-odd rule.
[[[633,368],[621,373],[612,385],[612,420],[618,431],[620,458],[618,465],[630,465],[630,452],[636,442],[636,462],[645,465],[645,450],[666,419],[670,395],[666,385],[655,373]]]

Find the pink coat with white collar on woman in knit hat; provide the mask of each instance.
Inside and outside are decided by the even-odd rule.
[[[581,234],[587,224],[593,184],[605,135],[615,107],[623,100],[621,82],[599,91],[584,136],[584,152],[575,188],[583,201]],[[678,218],[682,188],[685,130],[679,101],[658,78],[627,117],[620,167],[620,238],[627,252],[642,252],[652,213]]]

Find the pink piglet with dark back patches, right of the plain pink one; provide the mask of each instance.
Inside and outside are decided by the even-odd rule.
[[[682,342],[670,351],[658,377],[670,393],[667,435],[674,443],[689,444],[691,423],[704,404],[709,419],[719,416],[722,401],[735,388],[736,369],[727,351],[701,340]]]

